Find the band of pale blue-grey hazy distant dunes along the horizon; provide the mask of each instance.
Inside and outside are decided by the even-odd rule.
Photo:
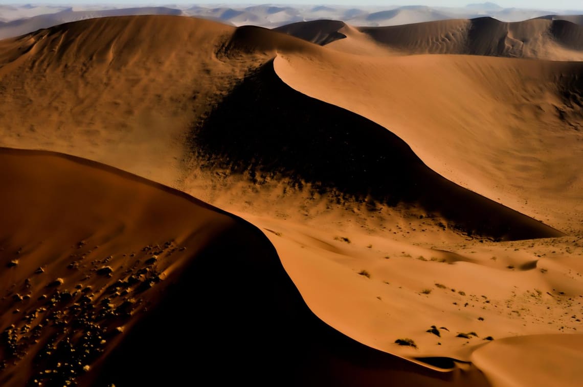
[[[552,7],[551,7],[552,8]],[[254,25],[280,27],[309,20],[342,20],[353,26],[399,26],[448,19],[493,17],[502,22],[520,22],[543,17],[568,20],[581,24],[580,10],[503,8],[491,3],[469,4],[465,7],[406,6],[342,6],[342,5],[187,5],[169,4],[161,7],[99,3],[0,5],[0,38],[14,37],[61,23],[92,17],[124,15],[183,15],[217,20],[233,26]]]

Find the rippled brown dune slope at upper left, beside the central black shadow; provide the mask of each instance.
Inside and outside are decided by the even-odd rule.
[[[245,72],[216,59],[233,30],[180,16],[107,17],[0,41],[1,143],[174,184],[188,127]]]

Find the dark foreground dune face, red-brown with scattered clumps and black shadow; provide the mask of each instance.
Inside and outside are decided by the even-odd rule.
[[[84,159],[2,148],[0,163],[4,386],[487,385],[325,325],[233,215]]]

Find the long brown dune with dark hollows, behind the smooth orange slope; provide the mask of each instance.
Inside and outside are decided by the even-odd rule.
[[[583,27],[564,20],[504,23],[491,17],[444,20],[360,31],[413,54],[471,54],[580,61]]]

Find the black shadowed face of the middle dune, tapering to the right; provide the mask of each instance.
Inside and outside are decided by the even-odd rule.
[[[246,77],[195,127],[191,142],[206,160],[204,168],[249,171],[259,183],[309,182],[373,207],[375,201],[419,204],[456,228],[498,239],[562,235],[439,176],[384,127],[291,89],[272,62]]]

